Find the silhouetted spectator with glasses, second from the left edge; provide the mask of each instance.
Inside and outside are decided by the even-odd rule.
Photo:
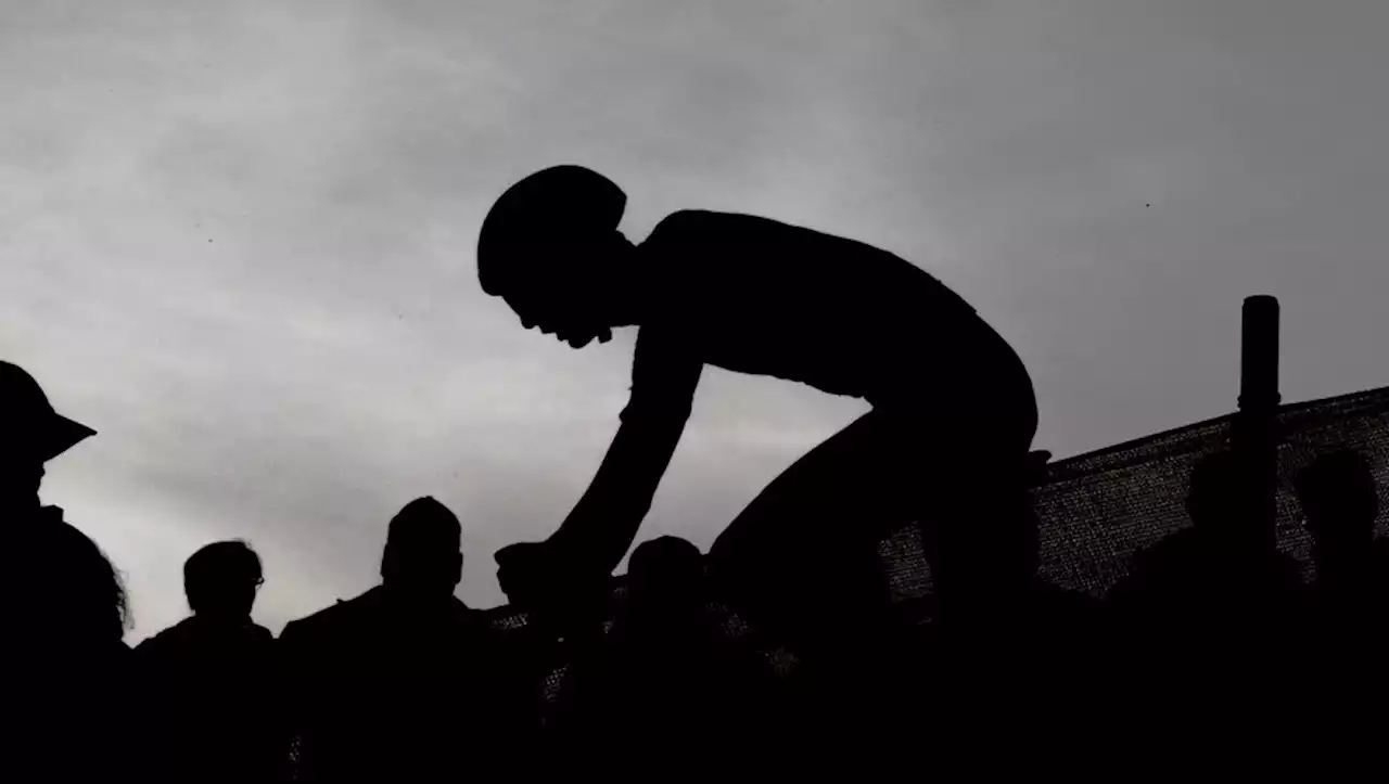
[[[193,615],[135,649],[161,699],[171,778],[276,781],[289,773],[274,637],[251,620],[263,581],[246,543],[203,547],[183,563]]]

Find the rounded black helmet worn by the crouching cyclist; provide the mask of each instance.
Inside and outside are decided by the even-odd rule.
[[[626,194],[606,176],[564,164],[517,182],[488,211],[478,235],[478,280],[497,296],[518,271],[511,265],[539,246],[617,229]]]

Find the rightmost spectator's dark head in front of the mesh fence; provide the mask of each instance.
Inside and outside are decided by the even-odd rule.
[[[1318,457],[1293,482],[1318,547],[1358,547],[1374,538],[1379,494],[1370,463],[1351,450]]]

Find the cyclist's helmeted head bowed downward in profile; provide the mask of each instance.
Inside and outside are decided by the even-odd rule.
[[[478,280],[526,329],[582,348],[613,337],[622,262],[633,246],[618,230],[626,194],[603,175],[551,167],[497,198],[478,237]]]

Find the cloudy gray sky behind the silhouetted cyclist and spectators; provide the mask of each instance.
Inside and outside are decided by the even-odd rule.
[[[1018,347],[1060,457],[1229,411],[1239,302],[1285,400],[1389,383],[1382,0],[0,0],[0,357],[100,434],[49,502],[139,640],[246,537],[278,630],[449,504],[460,595],[549,534],[617,425],[632,334],[576,352],[474,278],[557,162],[665,214],[763,214],[935,272]],[[864,407],[708,372],[639,538],[707,547]]]

